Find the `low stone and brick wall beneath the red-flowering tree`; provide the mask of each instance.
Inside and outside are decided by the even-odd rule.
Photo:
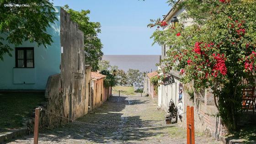
[[[220,117],[217,117],[217,108],[213,103],[213,94],[210,90],[202,89],[197,92],[194,90],[194,99],[190,100],[187,90],[192,90],[192,83],[184,85],[184,110],[187,111],[187,106],[194,107],[195,131],[202,132],[219,139],[219,135],[226,134],[226,128],[222,124]],[[187,127],[186,114],[182,117],[182,122],[179,122],[182,127]]]

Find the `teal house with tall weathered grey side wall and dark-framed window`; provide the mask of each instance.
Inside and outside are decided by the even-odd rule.
[[[13,51],[12,57],[6,54],[4,61],[0,61],[0,67],[5,69],[0,71],[0,90],[43,90],[47,100],[44,109],[76,119],[88,111],[91,81],[91,68],[85,66],[84,33],[63,8],[55,6],[53,12],[57,20],[46,29],[53,40],[47,48],[29,41],[18,46],[1,41]],[[61,117],[41,113],[40,128],[67,123]]]

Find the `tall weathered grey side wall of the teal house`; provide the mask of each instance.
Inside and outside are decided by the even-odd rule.
[[[76,119],[85,115],[88,97],[85,95],[84,33],[69,14],[60,8],[61,84],[64,116]]]

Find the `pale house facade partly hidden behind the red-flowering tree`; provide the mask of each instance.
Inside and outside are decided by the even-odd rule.
[[[171,19],[176,16],[180,20],[182,13],[186,13],[186,8],[175,8],[171,9],[167,15],[165,15],[162,21],[167,22],[171,25]],[[184,27],[192,25],[192,19],[188,18],[186,22],[179,21]],[[163,30],[167,30],[168,27],[164,27]],[[166,52],[170,49],[171,46],[162,45],[162,59],[166,58]],[[165,65],[160,65],[158,69],[163,69]],[[186,114],[183,112],[186,111],[187,106],[194,107],[194,119],[195,119],[195,130],[198,132],[211,134],[216,139],[219,139],[220,135],[224,135],[226,129],[222,124],[220,117],[217,117],[218,113],[217,108],[214,106],[213,94],[209,89],[203,89],[201,91],[195,91],[193,88],[193,82],[189,84],[182,84],[180,82],[181,75],[179,72],[170,70],[168,73],[174,83],[170,85],[160,85],[158,90],[158,106],[161,107],[166,112],[168,111],[168,104],[171,100],[174,101],[174,104],[177,108],[178,114],[181,116],[178,117],[178,123],[182,127],[187,127],[187,118]],[[192,96],[188,91],[192,91]]]

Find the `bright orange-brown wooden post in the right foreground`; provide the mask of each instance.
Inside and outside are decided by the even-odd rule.
[[[187,144],[195,144],[194,107],[187,106]]]

